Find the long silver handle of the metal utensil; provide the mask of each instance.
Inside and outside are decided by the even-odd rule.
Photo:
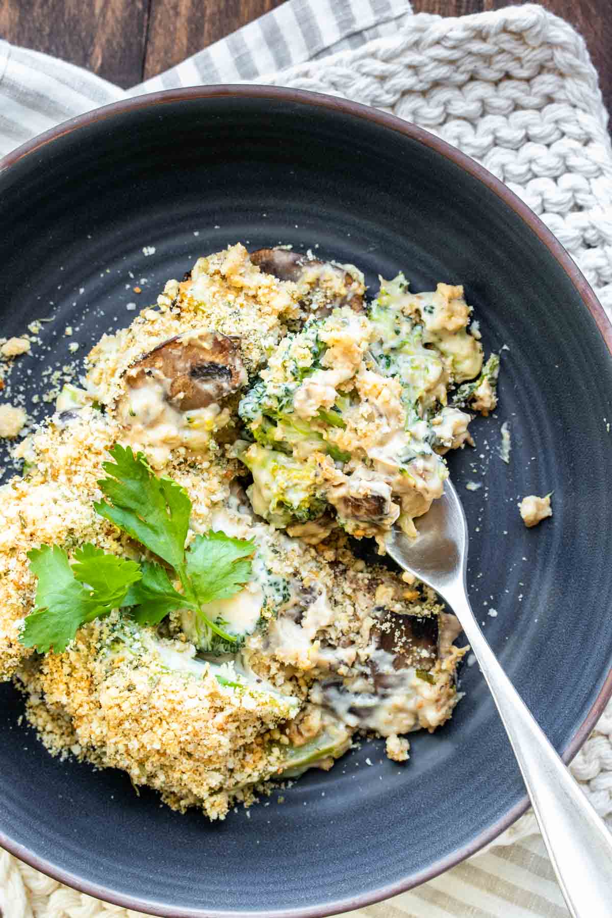
[[[610,918],[612,834],[497,662],[465,593],[445,598],[491,689],[570,912],[574,918]]]

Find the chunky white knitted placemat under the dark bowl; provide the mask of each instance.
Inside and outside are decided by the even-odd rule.
[[[341,95],[378,106],[437,134],[504,181],[562,242],[612,318],[612,150],[607,115],[584,40],[540,6],[508,7],[461,18],[406,17],[393,38],[257,79]],[[612,828],[612,703],[571,766]],[[529,812],[495,845],[536,833]],[[478,857],[473,863],[478,863]],[[486,855],[484,856],[486,857]],[[484,861],[484,858],[482,859]],[[462,866],[446,875],[453,876]],[[446,879],[445,878],[445,879]],[[423,888],[427,890],[427,887]],[[129,912],[69,890],[0,853],[6,918],[97,918]],[[394,900],[393,914],[420,912]],[[420,900],[421,904],[424,901]],[[433,900],[432,900],[433,901]],[[502,899],[496,914],[510,918]],[[386,918],[390,905],[351,914]],[[483,911],[436,914],[464,915]],[[563,907],[534,905],[533,915]]]

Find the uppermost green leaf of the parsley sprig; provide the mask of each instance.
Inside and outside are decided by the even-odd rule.
[[[118,443],[109,453],[115,463],[102,467],[110,477],[98,481],[107,500],[94,504],[95,512],[178,571],[191,512],[187,492],[171,478],[156,476],[143,453],[134,455]]]

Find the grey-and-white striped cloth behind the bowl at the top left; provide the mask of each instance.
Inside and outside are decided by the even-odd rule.
[[[81,67],[0,39],[0,156],[60,121],[118,99],[208,83],[261,82],[395,35],[407,0],[290,0],[152,79],[123,90]]]

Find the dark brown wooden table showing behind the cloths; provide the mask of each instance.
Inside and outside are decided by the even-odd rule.
[[[282,0],[0,0],[0,37],[128,87],[222,39]],[[416,13],[462,16],[508,0],[412,0]],[[517,3],[517,0],[514,0]],[[520,0],[518,0],[520,2]],[[586,39],[612,106],[612,0],[541,0]]]

